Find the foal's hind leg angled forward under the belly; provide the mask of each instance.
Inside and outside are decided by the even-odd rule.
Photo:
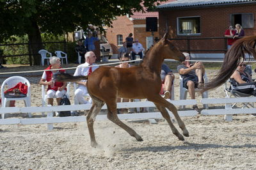
[[[108,106],[108,119],[113,121],[116,125],[123,128],[128,134],[135,137],[137,141],[143,141],[140,135],[138,135],[132,128],[125,125],[122,121],[119,120],[117,113],[116,113],[116,103],[114,102],[106,102]]]

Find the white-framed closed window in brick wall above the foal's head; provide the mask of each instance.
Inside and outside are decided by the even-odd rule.
[[[177,18],[178,35],[200,35],[200,17]]]

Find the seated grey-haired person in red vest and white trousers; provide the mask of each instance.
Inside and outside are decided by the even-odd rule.
[[[63,95],[67,92],[67,82],[55,82],[54,79],[52,79],[52,75],[58,72],[65,72],[65,70],[53,70],[53,71],[47,71],[51,69],[58,69],[61,68],[61,61],[60,58],[57,58],[56,56],[53,56],[50,58],[50,65],[45,68],[45,71],[42,75],[42,78],[39,82],[41,85],[48,85],[47,88],[47,98],[48,98],[48,104],[53,105],[53,98],[56,97],[57,104],[60,105],[60,100],[63,97]]]

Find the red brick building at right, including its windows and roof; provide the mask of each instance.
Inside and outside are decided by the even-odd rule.
[[[206,38],[211,40],[175,40],[180,50],[225,49],[223,37],[228,26],[241,24],[245,35],[256,35],[255,12],[256,0],[179,0],[157,6],[159,11],[159,34],[163,36],[166,24],[171,38]],[[194,50],[194,51],[193,51]],[[202,51],[201,51],[202,52]],[[202,55],[209,52],[204,52]],[[223,52],[212,51],[211,53]],[[215,54],[214,54],[215,55]]]

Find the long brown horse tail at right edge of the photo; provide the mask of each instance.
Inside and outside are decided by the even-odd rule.
[[[215,75],[215,77],[205,84],[205,87],[202,88],[202,91],[207,91],[209,89],[218,88],[221,84],[225,83],[232,73],[236,70],[239,63],[243,62],[245,59],[245,54],[248,54],[250,59],[252,57],[256,58],[256,36],[246,36],[237,40],[227,54],[223,64],[221,65],[220,71]]]

